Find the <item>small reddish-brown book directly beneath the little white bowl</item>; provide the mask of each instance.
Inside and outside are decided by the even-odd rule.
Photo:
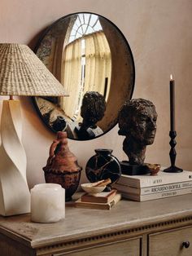
[[[112,189],[110,192],[101,192],[94,196],[85,193],[81,196],[81,201],[93,202],[93,203],[107,203],[116,196],[116,189]]]

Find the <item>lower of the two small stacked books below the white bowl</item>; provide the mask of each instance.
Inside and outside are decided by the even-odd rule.
[[[75,202],[76,207],[89,208],[89,209],[98,209],[98,210],[111,210],[111,208],[116,205],[121,199],[121,194],[117,193],[113,199],[107,203],[92,203],[92,202],[83,202],[81,198]]]

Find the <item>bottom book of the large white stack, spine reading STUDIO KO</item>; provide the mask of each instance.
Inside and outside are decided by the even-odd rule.
[[[149,194],[149,195],[135,195],[131,193],[125,193],[121,192],[122,197],[133,200],[133,201],[150,201],[154,199],[160,199],[164,197],[170,197],[170,196],[181,196],[185,194],[190,194],[192,192],[192,188],[183,188],[178,189],[174,191],[169,192],[159,192],[155,194]]]

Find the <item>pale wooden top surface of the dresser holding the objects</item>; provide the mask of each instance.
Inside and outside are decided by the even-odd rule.
[[[131,227],[192,216],[192,195],[154,201],[121,200],[111,210],[66,207],[58,223],[32,223],[30,214],[0,217],[0,232],[33,248]]]

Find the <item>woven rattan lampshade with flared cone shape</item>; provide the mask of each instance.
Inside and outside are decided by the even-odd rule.
[[[0,95],[64,96],[63,86],[26,45],[0,43]]]

